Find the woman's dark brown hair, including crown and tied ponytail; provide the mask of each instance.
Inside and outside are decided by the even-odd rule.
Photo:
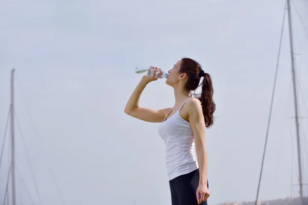
[[[208,73],[204,73],[201,65],[191,58],[182,58],[180,73],[187,74],[187,81],[185,84],[185,90],[195,91],[199,86],[202,85],[202,91],[199,94],[191,94],[200,100],[202,112],[205,121],[205,127],[209,128],[214,123],[214,112],[216,105],[213,100],[213,84],[211,77]],[[203,77],[202,84],[199,85],[200,79]]]

